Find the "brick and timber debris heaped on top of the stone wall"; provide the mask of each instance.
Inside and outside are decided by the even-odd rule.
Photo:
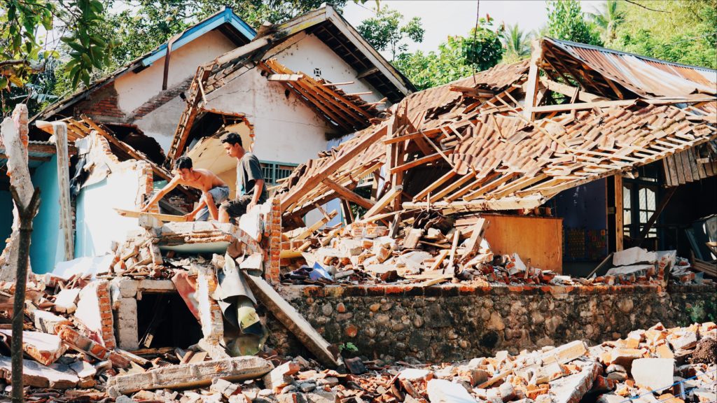
[[[629,285],[713,283],[695,275],[688,260],[676,251],[648,252],[640,247],[616,252],[601,275],[571,278],[541,270],[518,253],[494,255],[484,239],[489,221],[470,220],[458,226],[455,218],[420,212],[389,227],[377,222],[384,214],[345,227],[300,227],[283,234],[282,257],[289,264],[282,273],[286,284],[421,283],[476,281],[510,285]],[[327,217],[328,218],[328,217]],[[325,224],[322,219],[318,224]],[[465,219],[464,219],[465,222]],[[394,227],[396,228],[394,230]],[[610,264],[612,263],[612,264]],[[612,267],[612,268],[609,268]],[[609,268],[609,270],[608,270]],[[605,271],[607,270],[607,272]],[[599,270],[596,270],[596,272]]]

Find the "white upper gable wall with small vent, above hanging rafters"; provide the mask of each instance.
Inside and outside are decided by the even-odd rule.
[[[301,32],[289,41],[271,49],[267,54],[275,54],[276,60],[294,72],[303,72],[313,78],[323,78],[330,82],[349,82],[353,84],[341,85],[345,93],[365,93],[371,91],[373,94],[360,95],[366,102],[378,102],[384,98],[376,88],[364,80],[359,80],[356,75],[359,72],[344,62],[331,47],[321,42],[313,34]],[[314,75],[314,69],[321,70],[321,76]],[[379,105],[379,109],[388,108],[390,103]]]

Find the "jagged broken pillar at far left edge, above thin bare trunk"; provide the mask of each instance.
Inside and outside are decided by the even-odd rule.
[[[24,206],[29,205],[34,189],[27,166],[27,106],[19,104],[12,113],[12,118],[5,118],[0,126],[0,139],[7,155],[7,176],[10,184],[17,191]],[[20,216],[17,207],[12,209],[12,232],[5,249],[0,255],[0,278],[4,281],[16,280],[17,255],[20,250]],[[28,263],[28,269],[30,268]],[[31,272],[31,270],[27,270]]]

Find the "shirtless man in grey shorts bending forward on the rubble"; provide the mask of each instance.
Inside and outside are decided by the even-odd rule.
[[[217,205],[229,198],[229,186],[227,186],[219,176],[214,175],[212,171],[200,168],[194,169],[192,167],[191,158],[189,157],[179,158],[174,168],[176,169],[174,178],[172,178],[161,191],[158,191],[141,211],[148,212],[153,204],[168,194],[177,185],[184,185],[201,190],[199,205],[193,212],[184,214],[184,218],[187,221],[192,221],[192,219],[195,219],[195,221],[206,221],[206,219],[209,218],[209,214],[212,214],[212,219],[218,219],[219,212]]]

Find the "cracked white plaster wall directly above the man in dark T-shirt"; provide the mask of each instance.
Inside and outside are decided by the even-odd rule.
[[[267,81],[256,68],[207,95],[206,109],[242,113],[254,125],[254,153],[262,161],[304,163],[326,148],[326,133],[335,131],[326,120],[279,82]]]

